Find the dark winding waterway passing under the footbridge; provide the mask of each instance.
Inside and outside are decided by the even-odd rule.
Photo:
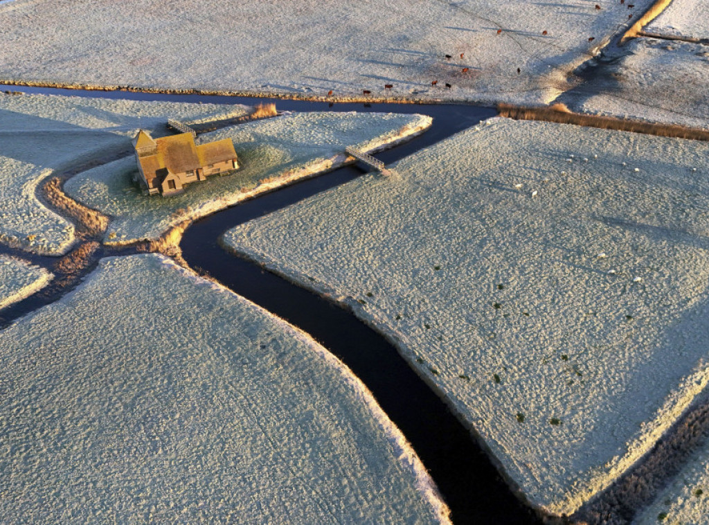
[[[433,124],[423,135],[376,155],[386,163],[411,155],[496,114],[493,109],[464,105],[330,104],[197,94],[11,86],[4,89],[26,93],[216,104],[253,105],[273,101],[279,110],[286,111],[375,111],[432,116]],[[237,294],[310,333],[350,367],[415,448],[450,506],[455,524],[538,523],[534,512],[510,490],[465,426],[384,337],[359,321],[350,311],[252,262],[235,258],[218,245],[218,238],[229,228],[345,183],[362,173],[357,167],[342,167],[196,221],[187,228],[182,238],[183,256],[194,270],[211,275]],[[25,310],[30,303],[21,310]],[[16,315],[20,313],[19,309],[13,312]]]

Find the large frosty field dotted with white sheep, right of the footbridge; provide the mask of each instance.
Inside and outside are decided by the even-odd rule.
[[[709,380],[709,144],[495,118],[395,170],[224,241],[388,334],[573,512]]]

